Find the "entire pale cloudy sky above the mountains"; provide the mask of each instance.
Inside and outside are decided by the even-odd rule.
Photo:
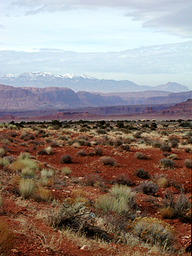
[[[44,71],[192,89],[191,0],[1,0],[0,76]]]

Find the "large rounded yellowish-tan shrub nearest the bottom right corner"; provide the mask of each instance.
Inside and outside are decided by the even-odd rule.
[[[173,227],[156,218],[136,218],[132,222],[132,230],[146,243],[161,247],[164,250],[172,248],[175,241]]]

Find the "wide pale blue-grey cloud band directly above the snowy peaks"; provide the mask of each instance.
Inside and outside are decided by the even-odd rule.
[[[58,73],[186,74],[192,70],[192,41],[140,47],[121,52],[74,52],[40,49],[0,51],[0,70],[6,73],[58,70]]]

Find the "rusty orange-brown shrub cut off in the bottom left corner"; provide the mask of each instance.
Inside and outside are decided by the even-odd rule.
[[[4,221],[0,221],[0,253],[9,255],[14,244],[14,234],[8,229]]]

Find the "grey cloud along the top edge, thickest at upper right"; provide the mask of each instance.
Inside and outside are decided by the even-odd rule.
[[[71,9],[119,8],[122,15],[142,20],[144,28],[192,37],[191,0],[9,0],[10,6],[25,7],[26,15]]]

